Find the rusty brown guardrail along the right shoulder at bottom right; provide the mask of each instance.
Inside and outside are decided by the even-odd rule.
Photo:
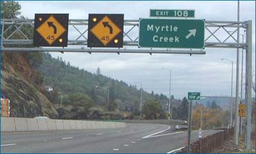
[[[203,137],[201,140],[201,149],[200,149],[200,140],[195,141],[190,144],[191,149],[190,153],[210,153],[213,149],[221,147],[221,145],[227,139],[234,135],[234,128],[224,129],[224,131],[215,133],[213,135],[209,135],[207,137]],[[181,149],[181,151],[176,153],[188,153],[188,146]]]

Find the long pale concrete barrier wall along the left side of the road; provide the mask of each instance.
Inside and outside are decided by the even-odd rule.
[[[122,128],[125,123],[1,117],[1,132],[55,131],[63,129]]]

